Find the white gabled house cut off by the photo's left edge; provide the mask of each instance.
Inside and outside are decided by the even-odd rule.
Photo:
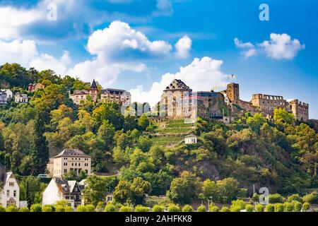
[[[0,171],[0,182],[1,182],[1,196],[0,204],[6,208],[7,206],[20,207],[20,187],[13,172],[1,172]]]

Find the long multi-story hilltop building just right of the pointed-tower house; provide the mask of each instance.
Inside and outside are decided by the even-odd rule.
[[[128,107],[131,103],[131,94],[126,90],[107,88],[101,90],[100,100],[105,102],[117,102],[119,105]]]

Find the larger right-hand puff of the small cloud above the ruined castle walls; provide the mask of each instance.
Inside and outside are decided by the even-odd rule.
[[[298,52],[305,49],[305,44],[300,44],[299,40],[292,40],[287,34],[271,34],[271,40],[259,44],[264,49],[267,57],[273,59],[293,59]]]

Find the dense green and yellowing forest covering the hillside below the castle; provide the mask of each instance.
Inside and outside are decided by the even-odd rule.
[[[45,89],[28,93],[29,83]],[[32,176],[45,173],[49,157],[64,148],[83,150],[92,156],[93,172],[113,175],[88,177],[86,199],[94,206],[110,191],[118,203],[145,204],[146,194],[180,204],[211,196],[227,203],[252,196],[253,185],[284,195],[318,185],[318,133],[284,109],[276,109],[271,121],[249,112],[228,125],[197,119],[188,132],[198,143],[163,145],[151,115],[122,115],[119,105],[90,99],[74,105],[69,91],[90,87],[78,78],[4,64],[0,84],[30,97],[28,104],[0,106],[0,164],[20,178],[21,196],[30,203],[39,202],[45,187]]]

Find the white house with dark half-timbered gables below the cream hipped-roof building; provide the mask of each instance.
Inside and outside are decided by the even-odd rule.
[[[76,181],[53,178],[42,194],[42,205],[52,205],[57,201],[69,201],[72,208],[82,205],[83,186]]]

